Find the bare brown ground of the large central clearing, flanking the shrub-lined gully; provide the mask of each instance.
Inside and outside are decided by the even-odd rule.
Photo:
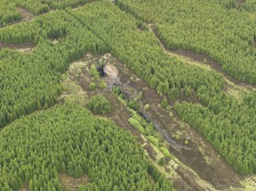
[[[131,114],[118,98],[112,94],[112,91],[109,88],[89,90],[89,66],[92,63],[96,64],[100,57],[102,56],[89,53],[83,59],[74,62],[72,65],[82,65],[83,75],[80,78],[74,78],[76,69],[71,66],[73,69],[69,72],[69,78],[72,81],[76,81],[83,88],[83,91],[86,91],[88,98],[95,94],[103,94],[110,101],[112,107],[111,113],[105,116],[112,119],[118,126],[128,129],[138,137],[148,157],[152,161],[156,161],[159,158],[159,154],[157,155],[154,145],[151,145],[147,140],[142,138],[141,132],[138,132],[128,123]],[[245,177],[236,173],[232,166],[222,158],[218,151],[215,151],[215,148],[196,129],[193,129],[186,123],[183,123],[185,129],[180,129],[182,122],[177,113],[171,110],[170,116],[167,110],[159,107],[163,97],[160,97],[157,91],[151,89],[146,81],[134,75],[118,59],[115,59],[110,54],[104,57],[109,64],[117,68],[118,83],[121,91],[124,91],[125,94],[131,97],[133,94],[138,94],[139,91],[142,91],[144,96],[141,107],[147,103],[150,104],[150,110],[144,112],[143,115],[157,126],[158,132],[164,135],[164,138],[170,143],[170,152],[177,158],[175,162],[171,160],[169,164],[172,165],[167,164],[163,170],[167,174],[167,177],[169,174],[168,170],[172,173],[175,171],[174,178],[170,176],[170,180],[174,183],[177,190],[244,190],[240,182],[241,180],[245,180]],[[110,84],[112,83],[108,76],[102,79]],[[177,101],[183,100],[199,103],[195,94],[192,94],[191,97],[181,95]],[[175,103],[173,100],[168,100],[168,102],[171,106]],[[184,143],[186,140],[189,141],[188,145]],[[173,165],[176,167],[170,169]]]

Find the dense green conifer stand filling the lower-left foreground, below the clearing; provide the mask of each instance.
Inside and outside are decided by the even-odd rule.
[[[22,117],[0,138],[2,191],[24,182],[30,190],[63,190],[59,172],[86,173],[90,183],[79,190],[172,190],[131,133],[71,103]]]

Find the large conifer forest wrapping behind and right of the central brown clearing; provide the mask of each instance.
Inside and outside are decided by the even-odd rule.
[[[181,118],[202,132],[235,170],[256,173],[254,93],[241,101],[225,94],[222,75],[168,56],[144,24],[154,21],[167,46],[206,53],[233,77],[254,83],[254,17],[219,1],[127,0],[117,5],[94,2],[0,29],[2,43],[36,44],[29,54],[0,51],[0,126],[53,106],[61,92],[60,74],[86,51],[112,53],[159,94],[176,99],[182,90],[194,91],[202,104],[177,103]]]

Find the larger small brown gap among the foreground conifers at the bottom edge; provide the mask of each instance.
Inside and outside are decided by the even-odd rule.
[[[83,174],[82,177],[76,179],[70,177],[66,173],[59,173],[59,180],[63,189],[66,191],[75,191],[79,186],[89,183],[89,177],[86,174]]]

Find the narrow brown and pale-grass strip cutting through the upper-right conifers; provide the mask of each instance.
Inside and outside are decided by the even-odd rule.
[[[219,62],[216,62],[214,59],[210,58],[209,56],[206,56],[201,53],[194,53],[193,51],[190,51],[190,50],[168,49],[167,46],[164,44],[164,42],[160,40],[160,37],[156,32],[155,25],[147,24],[147,27],[152,33],[154,33],[154,36],[157,38],[160,46],[162,47],[162,49],[164,49],[164,52],[167,53],[168,55],[182,58],[188,64],[201,65],[203,68],[212,69],[212,70],[215,70],[215,72],[221,73],[225,77],[225,81],[227,82],[227,84],[229,84],[229,86],[230,84],[234,84],[235,86],[238,86],[240,90],[245,89],[246,91],[251,91],[254,88],[256,88],[256,84],[250,84],[247,82],[238,81],[235,78],[230,77],[226,72],[222,71],[222,66],[219,64]]]

